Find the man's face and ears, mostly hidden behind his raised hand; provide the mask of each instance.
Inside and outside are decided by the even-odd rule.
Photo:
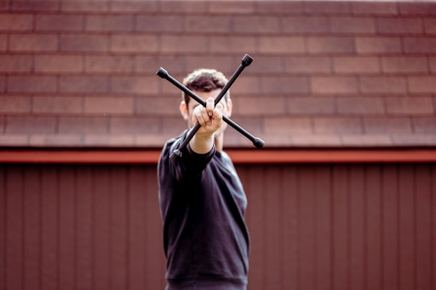
[[[221,89],[215,89],[213,91],[194,91],[194,93],[196,93],[196,95],[200,98],[202,98],[203,100],[206,100],[207,98],[216,98],[219,94],[219,92],[221,91]],[[219,101],[222,105],[223,105],[223,115],[224,116],[231,116],[231,112],[232,112],[232,101],[230,100],[230,98],[228,99],[228,101],[226,101],[226,97],[221,98],[221,100]],[[192,128],[194,127],[195,124],[192,124],[192,112],[194,112],[195,107],[197,107],[198,102],[196,102],[193,99],[189,100],[189,103],[186,105],[185,102],[182,102],[180,104],[180,113],[183,116],[183,119],[185,119],[188,123],[188,127]],[[219,128],[219,130],[217,130],[217,132],[215,132],[215,135],[219,135],[222,132],[224,132],[224,130],[226,130],[227,128],[227,123],[224,123],[221,128]]]

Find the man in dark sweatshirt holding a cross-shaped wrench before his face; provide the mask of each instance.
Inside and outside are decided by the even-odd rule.
[[[167,290],[247,289],[249,233],[247,208],[233,162],[223,151],[223,115],[230,117],[230,93],[215,107],[227,79],[217,70],[199,69],[183,84],[206,102],[183,94],[180,113],[201,128],[176,160],[169,156],[189,133],[166,142],[159,158],[159,204],[164,222]]]

